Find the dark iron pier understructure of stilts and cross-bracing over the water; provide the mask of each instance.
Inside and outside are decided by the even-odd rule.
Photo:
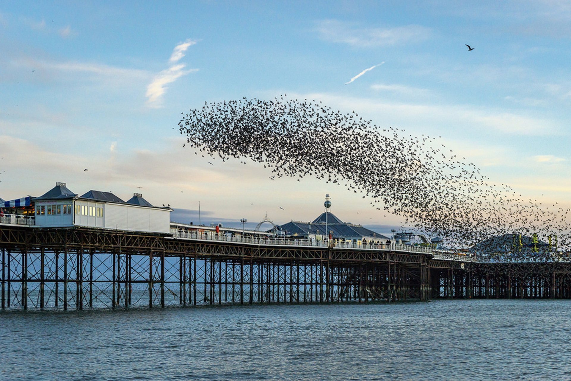
[[[1,308],[571,297],[571,264],[428,247],[0,225]]]

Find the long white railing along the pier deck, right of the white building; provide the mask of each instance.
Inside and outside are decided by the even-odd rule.
[[[243,235],[227,235],[226,233],[196,232],[196,231],[171,231],[174,238],[198,239],[208,241],[223,241],[246,243],[256,245],[288,245],[288,246],[309,246],[309,247],[331,247],[343,249],[373,249],[384,251],[404,251],[412,253],[432,253],[429,247],[401,245],[396,243],[369,243],[363,241],[340,241],[340,240],[317,240],[317,239],[296,239],[285,237],[252,237]]]

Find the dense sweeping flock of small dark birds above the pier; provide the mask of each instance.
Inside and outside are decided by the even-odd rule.
[[[383,215],[403,217],[403,226],[442,237],[448,247],[479,244],[478,250],[490,255],[544,259],[569,249],[569,209],[541,205],[506,184],[493,184],[436,138],[381,128],[320,101],[281,96],[206,103],[183,113],[179,130],[195,154],[263,163],[271,180],[312,176],[343,185]],[[532,248],[490,240],[534,234],[539,239]]]

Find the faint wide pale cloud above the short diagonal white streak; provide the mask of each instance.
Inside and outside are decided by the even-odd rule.
[[[404,42],[416,42],[428,38],[431,33],[430,29],[420,25],[359,28],[352,23],[338,20],[323,20],[316,24],[315,30],[321,39],[359,47],[391,46]]]

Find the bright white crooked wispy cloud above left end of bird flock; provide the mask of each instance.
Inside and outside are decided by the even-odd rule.
[[[196,41],[187,39],[186,41],[179,43],[172,50],[171,58],[168,59],[171,66],[168,69],[162,70],[160,73],[156,74],[150,84],[147,86],[147,106],[150,108],[161,108],[163,106],[163,94],[166,92],[166,85],[178,80],[182,76],[186,76],[188,73],[198,72],[198,69],[188,69],[184,63],[178,63],[181,58],[184,57],[184,52],[189,46],[195,45]]]

